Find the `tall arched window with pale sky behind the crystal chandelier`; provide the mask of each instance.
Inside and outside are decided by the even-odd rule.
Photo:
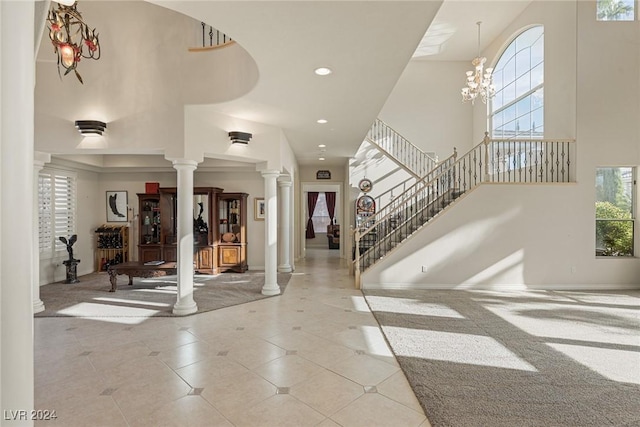
[[[522,32],[507,46],[494,68],[496,95],[491,102],[493,138],[544,135],[544,27]]]

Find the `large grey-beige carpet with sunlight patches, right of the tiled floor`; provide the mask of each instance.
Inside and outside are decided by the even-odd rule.
[[[364,294],[433,427],[640,426],[640,291]]]

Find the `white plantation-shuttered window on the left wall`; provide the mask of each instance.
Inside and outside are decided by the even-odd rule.
[[[38,174],[38,241],[40,259],[67,254],[60,237],[68,239],[77,227],[77,174],[44,168]]]

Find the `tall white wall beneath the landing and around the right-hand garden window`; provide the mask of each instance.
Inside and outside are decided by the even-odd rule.
[[[365,272],[364,286],[640,286],[637,257],[596,258],[594,206],[597,167],[640,163],[640,23],[595,16],[595,1],[533,2],[483,52],[495,64],[522,29],[545,26],[545,137],[577,139],[577,182],[481,186]],[[480,103],[473,134],[485,123]]]

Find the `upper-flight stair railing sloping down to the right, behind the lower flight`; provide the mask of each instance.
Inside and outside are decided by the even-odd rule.
[[[415,178],[425,177],[438,162],[380,119],[376,119],[366,140],[374,144]]]

